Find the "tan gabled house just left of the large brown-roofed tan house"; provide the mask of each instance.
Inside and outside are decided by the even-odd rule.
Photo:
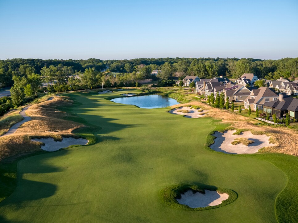
[[[235,85],[229,88],[224,88],[225,101],[243,102],[251,93],[252,88],[247,88],[244,85]]]

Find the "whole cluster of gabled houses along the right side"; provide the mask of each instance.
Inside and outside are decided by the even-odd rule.
[[[254,74],[243,74],[240,78],[231,82],[228,78],[220,76],[219,78],[201,79],[197,76],[186,76],[183,86],[188,87],[191,82],[196,84],[196,92],[201,95],[224,93],[225,100],[229,102],[244,102],[244,107],[252,111],[263,111],[264,114],[270,113],[270,116],[276,114],[281,118],[289,113],[291,118],[298,118],[298,99],[289,97],[289,95],[298,95],[298,80],[289,82],[282,77],[275,81],[265,82],[265,87],[254,87],[254,83],[259,78]],[[177,81],[179,85],[181,80]]]

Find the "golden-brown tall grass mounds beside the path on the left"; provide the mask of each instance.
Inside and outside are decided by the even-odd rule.
[[[73,137],[71,132],[84,125],[66,120],[69,114],[58,110],[60,106],[71,106],[72,103],[68,97],[55,97],[32,105],[26,112],[31,120],[21,125],[13,135],[0,138],[0,160],[40,150],[40,143],[31,141],[34,137],[53,137],[56,140],[61,140],[62,136]]]

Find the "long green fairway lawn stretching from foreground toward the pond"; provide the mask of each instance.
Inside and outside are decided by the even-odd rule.
[[[297,203],[297,157],[212,152],[206,138],[226,124],[105,99],[123,92],[64,94],[77,105],[71,110],[75,120],[97,127],[97,143],[20,160],[17,188],[0,203],[1,222],[296,220],[295,207],[284,207]],[[173,209],[159,193],[174,184],[227,188],[238,198],[210,210]]]

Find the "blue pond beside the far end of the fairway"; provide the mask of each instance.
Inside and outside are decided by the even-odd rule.
[[[111,101],[120,103],[120,104],[136,105],[140,108],[147,108],[147,109],[164,108],[164,107],[179,104],[175,99],[168,98],[159,94],[114,98]]]

